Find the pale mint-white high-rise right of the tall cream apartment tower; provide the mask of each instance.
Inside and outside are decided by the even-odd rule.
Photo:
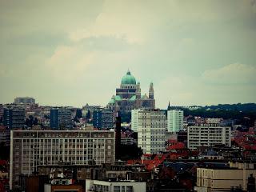
[[[183,130],[183,110],[167,111],[167,130],[168,132],[178,132]]]

